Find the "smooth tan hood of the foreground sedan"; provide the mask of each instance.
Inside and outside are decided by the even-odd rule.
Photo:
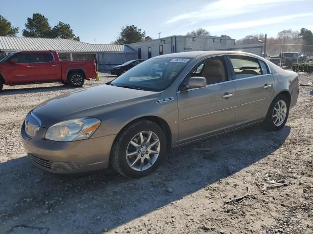
[[[69,92],[47,100],[32,112],[41,119],[42,127],[72,118],[99,117],[104,113],[160,96],[160,92],[99,85]]]

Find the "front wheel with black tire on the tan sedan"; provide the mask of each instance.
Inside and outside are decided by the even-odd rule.
[[[140,133],[142,133],[144,139],[143,143]],[[137,146],[134,146],[131,141],[133,141],[133,144],[138,143]],[[154,145],[150,148],[149,145],[153,143]],[[155,154],[156,152],[158,152],[158,155]],[[117,135],[112,146],[110,161],[113,168],[122,176],[140,178],[155,171],[165,154],[166,137],[164,132],[156,123],[142,119],[126,126]]]

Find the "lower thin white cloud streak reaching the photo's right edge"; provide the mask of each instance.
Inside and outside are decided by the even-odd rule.
[[[268,24],[283,23],[283,22],[286,22],[287,20],[294,20],[298,18],[305,18],[305,17],[311,17],[311,16],[313,16],[313,13],[295,14],[295,15],[288,15],[288,16],[266,18],[262,20],[250,20],[250,21],[237,22],[237,23],[212,25],[212,26],[206,26],[204,27],[204,29],[209,30],[209,31],[222,31],[222,30],[227,30],[227,29],[252,28],[252,27],[268,25]]]

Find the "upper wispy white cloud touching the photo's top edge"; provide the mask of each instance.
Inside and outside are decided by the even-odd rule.
[[[180,14],[167,20],[165,24],[178,22],[180,20],[208,20],[216,18],[242,15],[249,12],[260,11],[271,7],[273,4],[283,4],[287,1],[299,0],[218,0],[201,7],[199,11]]]

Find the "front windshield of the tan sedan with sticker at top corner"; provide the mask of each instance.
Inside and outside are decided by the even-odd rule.
[[[110,85],[162,91],[178,77],[189,61],[190,59],[148,59],[114,79]]]

